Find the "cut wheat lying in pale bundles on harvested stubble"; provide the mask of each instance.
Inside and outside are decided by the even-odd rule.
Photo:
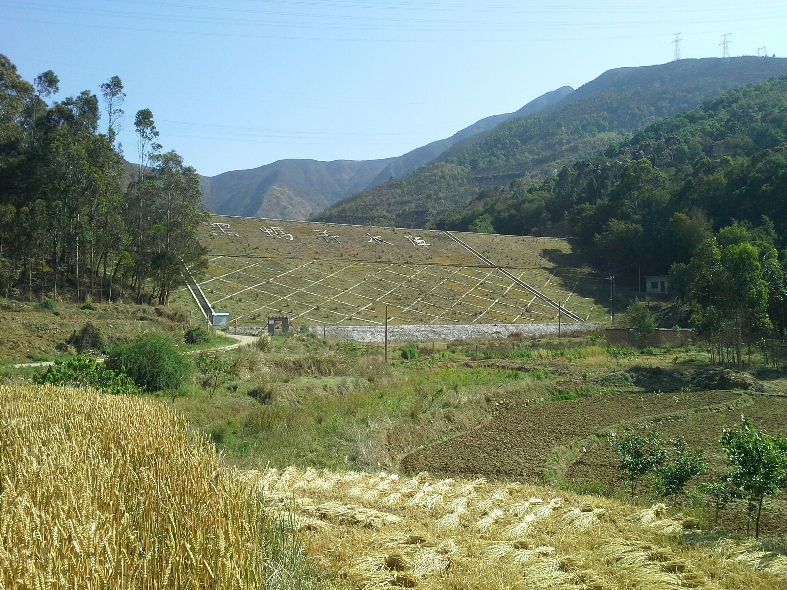
[[[310,552],[351,588],[678,590],[787,586],[787,558],[645,510],[528,485],[429,474],[245,472],[293,502]]]

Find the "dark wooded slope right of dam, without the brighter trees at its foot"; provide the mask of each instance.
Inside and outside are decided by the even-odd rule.
[[[719,230],[722,242],[752,239],[782,248],[787,76],[660,120],[543,183],[482,190],[435,225],[501,234],[562,228],[575,236],[573,245],[632,285],[639,271],[663,274],[688,262]]]

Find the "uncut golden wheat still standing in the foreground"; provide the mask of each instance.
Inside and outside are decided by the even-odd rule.
[[[2,588],[307,588],[286,518],[161,404],[0,386]]]

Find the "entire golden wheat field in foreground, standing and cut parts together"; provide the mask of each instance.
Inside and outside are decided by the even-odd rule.
[[[2,386],[0,420],[2,588],[787,588],[787,557],[663,504],[237,471],[164,404],[89,389]]]

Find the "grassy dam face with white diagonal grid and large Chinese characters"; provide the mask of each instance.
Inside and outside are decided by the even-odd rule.
[[[593,300],[603,280],[565,240],[457,235],[582,319],[607,317]],[[380,325],[386,305],[394,324],[558,321],[556,308],[441,231],[212,216],[202,239],[201,289],[242,325],[268,315],[301,326]],[[174,298],[194,307],[187,289]]]

